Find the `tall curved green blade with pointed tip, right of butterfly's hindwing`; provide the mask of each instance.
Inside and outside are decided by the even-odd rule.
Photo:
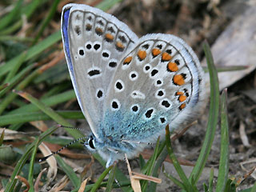
[[[202,150],[200,151],[198,161],[196,162],[194,169],[190,174],[190,181],[194,177],[194,181],[198,182],[203,168],[206,165],[207,158],[210,154],[210,148],[214,141],[214,135],[216,126],[218,124],[218,110],[219,110],[219,89],[218,89],[218,74],[214,66],[214,60],[210,53],[210,46],[204,43],[203,49],[206,54],[206,61],[210,74],[210,114],[208,118],[206,137],[202,144]]]

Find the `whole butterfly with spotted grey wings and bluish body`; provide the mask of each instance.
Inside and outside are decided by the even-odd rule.
[[[198,117],[204,72],[194,51],[171,34],[138,38],[97,8],[67,4],[62,42],[79,106],[90,125],[86,148],[113,162]]]

